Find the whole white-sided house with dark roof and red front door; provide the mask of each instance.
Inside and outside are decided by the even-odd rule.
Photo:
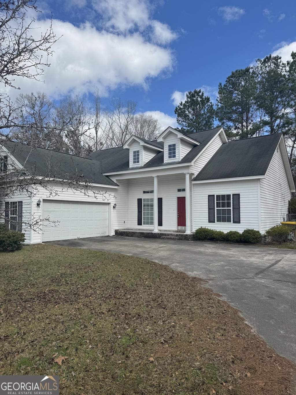
[[[35,186],[32,198],[15,194],[6,202],[6,222],[9,217],[58,222],[45,222],[42,231],[23,226],[28,243],[114,235],[116,229],[190,234],[204,226],[264,233],[283,220],[295,191],[281,134],[228,141],[221,127],[188,135],[167,128],[155,141],[132,136],[124,147],[88,158],[29,151],[26,145],[4,143],[2,171],[13,161],[24,172],[50,179],[51,163],[58,169],[56,193]],[[87,177],[90,191],[101,194],[94,197],[58,182],[74,171]]]

